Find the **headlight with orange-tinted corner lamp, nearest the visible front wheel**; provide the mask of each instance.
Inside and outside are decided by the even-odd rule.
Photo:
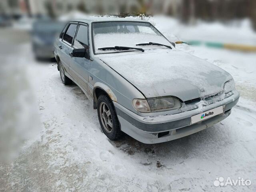
[[[134,99],[132,105],[136,110],[142,113],[167,111],[181,107],[180,101],[173,97],[149,98],[148,100]]]

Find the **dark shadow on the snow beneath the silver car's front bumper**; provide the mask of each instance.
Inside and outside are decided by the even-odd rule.
[[[141,164],[149,166],[156,164],[157,168],[168,166],[167,162],[182,164],[190,158],[210,158],[212,154],[222,156],[222,148],[232,144],[230,133],[223,134],[223,124],[216,124],[208,129],[176,140],[159,143],[143,144],[127,134],[118,141],[110,143],[119,150],[132,156],[140,156]]]

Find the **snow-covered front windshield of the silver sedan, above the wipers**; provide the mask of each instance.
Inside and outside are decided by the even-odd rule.
[[[99,22],[93,24],[94,50],[96,54],[112,53],[114,50],[98,48],[127,46],[143,49],[166,48],[159,46],[136,46],[140,43],[156,42],[171,46],[170,42],[150,23],[142,22]],[[120,51],[120,50],[116,50]],[[130,50],[123,50],[130,51]]]

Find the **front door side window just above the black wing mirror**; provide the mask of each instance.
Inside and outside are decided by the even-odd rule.
[[[75,49],[87,48],[88,47],[88,28],[87,26],[80,25],[74,40],[73,47]]]

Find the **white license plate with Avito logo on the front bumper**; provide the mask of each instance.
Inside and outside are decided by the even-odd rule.
[[[202,112],[200,114],[197,114],[191,117],[191,124],[200,122],[202,120],[206,120],[208,118],[214,117],[222,113],[223,113],[223,106],[219,106],[217,108]]]

